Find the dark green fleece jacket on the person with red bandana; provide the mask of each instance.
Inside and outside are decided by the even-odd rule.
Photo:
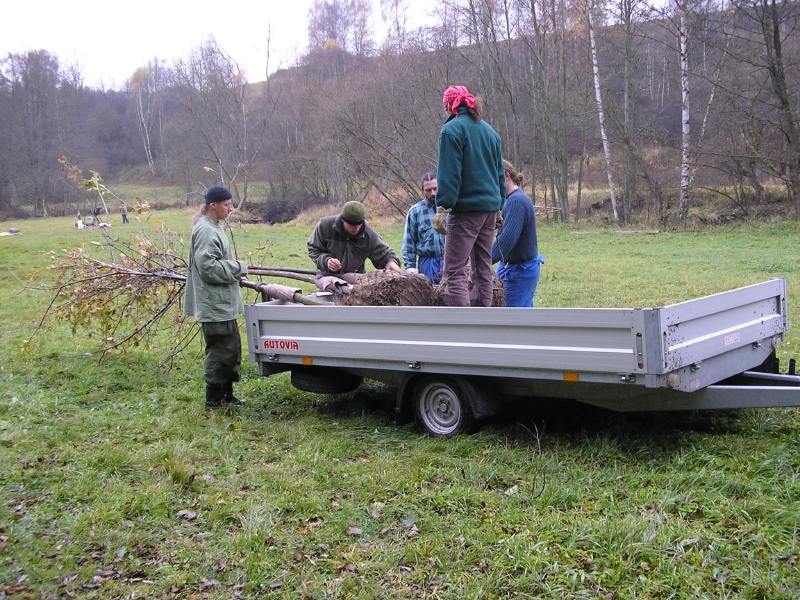
[[[506,178],[500,136],[466,107],[451,115],[439,133],[436,205],[454,213],[503,208]]]

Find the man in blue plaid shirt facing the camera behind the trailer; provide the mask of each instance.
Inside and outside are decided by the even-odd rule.
[[[420,186],[425,197],[412,206],[406,216],[403,262],[406,271],[422,273],[433,285],[437,285],[442,280],[444,236],[433,228],[433,216],[436,214],[436,173],[425,173]]]

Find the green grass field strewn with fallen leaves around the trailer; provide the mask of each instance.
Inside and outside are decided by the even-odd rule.
[[[188,243],[190,217],[113,233],[166,227]],[[797,409],[528,405],[432,439],[394,424],[389,387],[318,396],[248,363],[246,407],[207,415],[197,340],[165,372],[170,340],[98,362],[67,326],[34,335],[50,296],[24,276],[100,233],[72,219],[11,227],[0,598],[800,597]],[[310,231],[234,238],[249,262],[311,268]],[[800,223],[579,231],[540,224],[537,306],[659,306],[785,276],[800,318]],[[399,249],[401,228],[381,233]],[[782,364],[798,344],[792,327]]]

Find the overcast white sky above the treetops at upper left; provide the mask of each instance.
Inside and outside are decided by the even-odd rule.
[[[14,0],[0,9],[0,57],[44,49],[62,66],[77,63],[91,87],[121,88],[157,57],[184,58],[209,35],[236,60],[249,81],[265,78],[271,25],[270,72],[306,50],[312,0]],[[381,27],[380,1],[373,19]],[[424,19],[424,0],[412,0],[411,20]],[[425,6],[425,8],[423,8]],[[413,24],[413,23],[412,23]]]

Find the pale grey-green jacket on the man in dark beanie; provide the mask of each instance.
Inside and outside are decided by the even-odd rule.
[[[232,321],[244,312],[239,279],[247,265],[235,260],[219,222],[203,216],[192,229],[183,314],[201,323]]]

